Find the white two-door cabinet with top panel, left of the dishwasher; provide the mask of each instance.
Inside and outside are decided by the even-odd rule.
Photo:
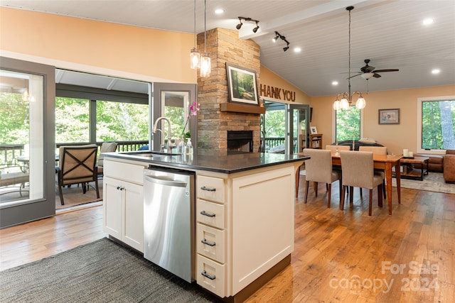
[[[103,177],[103,231],[140,252],[144,251],[143,170],[142,165],[105,160]]]

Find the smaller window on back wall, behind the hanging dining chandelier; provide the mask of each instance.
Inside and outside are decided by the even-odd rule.
[[[336,141],[360,139],[360,109],[351,107],[348,110],[340,109],[335,112]]]

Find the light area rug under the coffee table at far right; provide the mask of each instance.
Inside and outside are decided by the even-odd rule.
[[[400,185],[404,188],[455,194],[455,184],[446,183],[444,181],[444,175],[441,172],[429,172],[427,176],[424,176],[423,181],[401,179]],[[392,186],[397,186],[397,180],[395,178],[392,179]]]

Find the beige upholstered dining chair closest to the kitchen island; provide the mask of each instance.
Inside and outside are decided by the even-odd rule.
[[[318,197],[318,183],[322,182],[326,183],[328,192],[327,207],[330,207],[332,183],[336,180],[341,180],[341,171],[332,169],[330,150],[304,148],[304,155],[310,156],[309,160],[305,160],[305,203],[308,199],[309,182],[314,182],[314,193],[316,197]]]

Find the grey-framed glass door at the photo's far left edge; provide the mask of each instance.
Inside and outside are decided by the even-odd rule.
[[[54,68],[1,58],[0,227],[55,214]]]

